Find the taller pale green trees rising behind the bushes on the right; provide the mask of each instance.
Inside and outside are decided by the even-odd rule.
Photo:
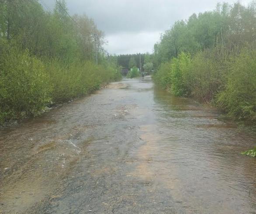
[[[247,8],[240,3],[218,4],[214,11],[193,14],[187,21],[176,21],[154,46],[153,62],[158,67],[181,52],[194,56],[220,44],[230,52],[237,52],[246,43],[255,45],[255,26],[255,2]]]

